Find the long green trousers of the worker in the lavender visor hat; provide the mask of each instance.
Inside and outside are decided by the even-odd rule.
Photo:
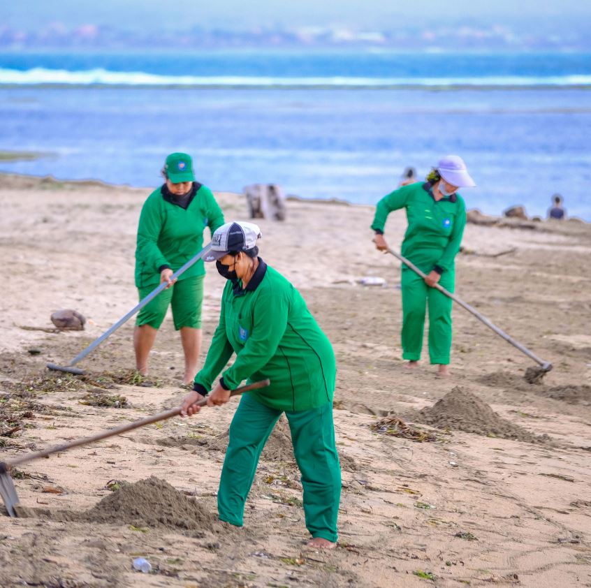
[[[425,284],[412,270],[402,268],[402,358],[421,359],[425,304],[429,308],[429,356],[431,363],[449,363],[451,351],[451,298]],[[444,272],[439,279],[447,291],[453,292],[455,271]]]

